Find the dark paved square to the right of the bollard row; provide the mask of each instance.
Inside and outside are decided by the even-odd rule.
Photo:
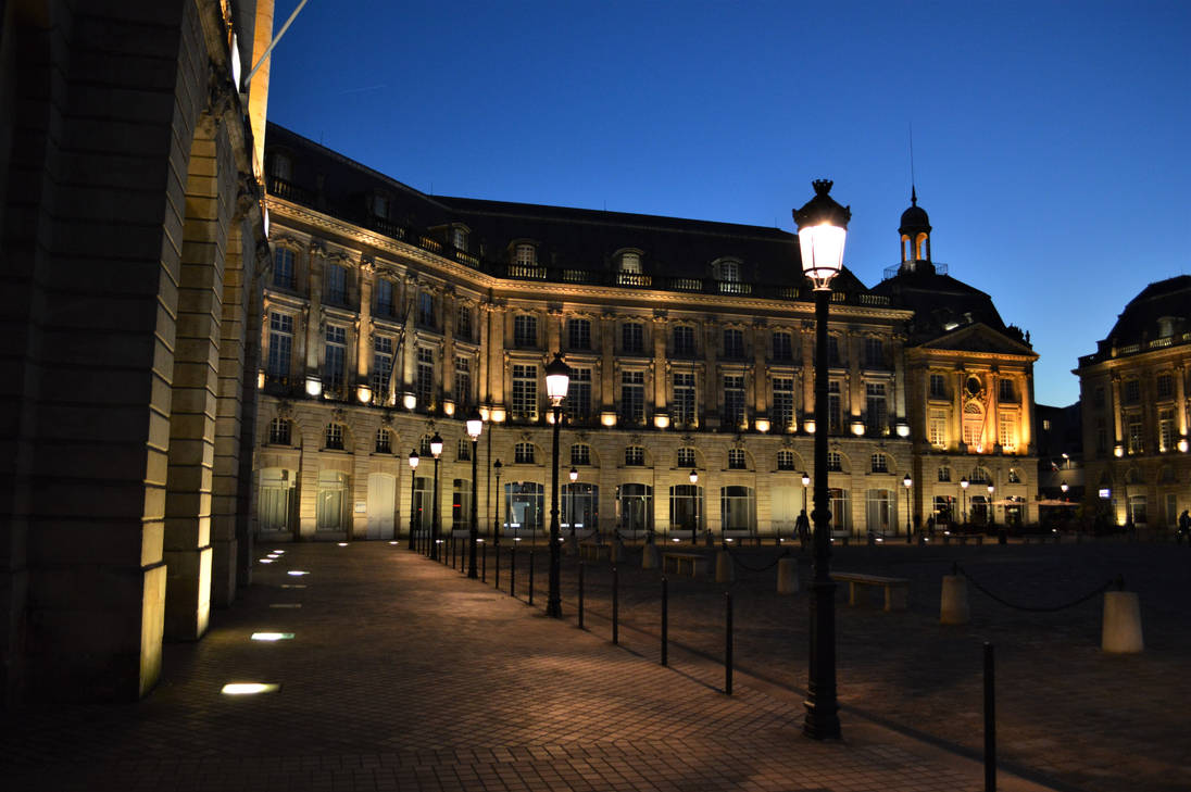
[[[690,550],[690,544],[679,545]],[[703,548],[712,557],[712,550]],[[542,550],[544,555],[544,549]],[[738,671],[802,692],[807,669],[810,550],[791,545],[804,592],[775,593],[779,550],[734,550],[730,586],[668,575],[669,637],[723,656],[723,592],[734,597]],[[910,609],[849,607],[840,587],[838,688],[847,735],[863,715],[903,734],[979,756],[983,644],[996,650],[998,756],[1031,778],[1090,792],[1191,790],[1191,549],[1174,544],[1081,542],[981,547],[835,547],[833,568],[909,578]],[[575,562],[572,562],[574,566]],[[1100,651],[1103,597],[1055,612],[1028,612],[969,586],[972,623],[939,623],[942,576],[953,563],[1012,605],[1059,606],[1116,575],[1141,601],[1146,650]],[[507,561],[506,561],[507,566]],[[585,607],[609,631],[609,565],[586,565]],[[567,567],[565,567],[567,568]],[[715,565],[711,565],[715,569]],[[763,569],[763,572],[757,572]],[[621,634],[656,656],[660,578],[640,550],[619,565]],[[574,575],[565,576],[574,598]],[[524,584],[520,584],[524,586]],[[879,597],[878,597],[879,600]],[[879,605],[878,603],[874,603]],[[574,603],[569,610],[574,610]]]

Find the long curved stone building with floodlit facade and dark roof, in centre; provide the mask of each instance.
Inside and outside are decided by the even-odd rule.
[[[915,522],[954,519],[954,509],[936,511],[959,497],[962,475],[1005,482],[998,498],[1014,500],[1002,513],[1035,518],[1035,355],[987,295],[949,277],[956,300],[979,303],[981,322],[921,320],[922,285],[909,270],[934,267],[927,245],[885,291],[848,272],[836,279],[831,420],[816,428],[813,301],[790,233],[429,197],[272,125],[266,157],[262,538],[392,538],[428,526],[436,431],[443,529],[466,526],[473,411],[486,420],[481,530],[497,518],[505,530],[544,530],[543,374],[555,353],[572,370],[559,463],[576,480],[563,473],[565,532],[788,535],[813,431],[830,435],[837,534],[904,535],[908,473]],[[946,404],[930,389],[940,372]],[[960,416],[973,404],[984,420],[968,436]],[[946,426],[927,442],[939,412]],[[411,450],[420,455],[412,478]],[[954,478],[936,480],[941,467]]]

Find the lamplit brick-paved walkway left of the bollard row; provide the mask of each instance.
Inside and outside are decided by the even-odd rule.
[[[6,715],[5,788],[983,788],[978,761],[852,711],[843,713],[843,741],[802,737],[802,698],[780,684],[780,674],[772,674],[778,684],[738,675],[729,697],[715,660],[675,648],[673,667],[663,668],[656,641],[628,624],[624,646],[612,646],[606,622],[599,624],[598,597],[587,630],[576,630],[573,618],[545,618],[541,560],[537,599],[528,607],[491,585],[491,566],[485,585],[387,543],[283,549],[281,560],[258,567],[236,607],[214,613],[201,642],[167,647],[163,681],[145,700]],[[572,592],[575,569],[568,561]],[[299,570],[310,574],[288,574]],[[588,572],[598,588],[599,570]],[[637,611],[656,574],[626,570],[625,578],[635,584],[625,591],[630,620],[648,628]],[[503,584],[507,579],[506,569]],[[738,591],[748,588],[742,581]],[[698,597],[722,597],[707,584],[688,584],[682,594],[679,624],[687,618],[681,609]],[[805,610],[798,597],[773,598],[773,605],[762,605],[765,599],[756,597],[759,615]],[[567,610],[573,617],[572,603]],[[700,617],[715,622],[717,612]],[[917,611],[841,619],[842,690],[850,703],[875,710],[873,697],[897,686],[859,692],[853,676],[875,665],[891,680],[917,655],[893,657],[892,649],[874,647],[855,656],[852,617],[865,616],[874,624],[869,632],[903,638],[908,631],[890,629],[899,624],[893,619],[928,619]],[[785,659],[804,654],[794,651],[799,618],[750,626],[756,635],[747,640],[742,632],[742,661],[763,665],[749,656],[752,647],[769,644],[788,666],[782,671],[799,676],[802,661]],[[293,638],[251,641],[255,631]],[[696,649],[700,635],[682,634]],[[243,697],[219,692],[226,682],[249,681],[280,688]],[[1062,788],[1004,771],[1000,781],[998,788],[1009,792]]]

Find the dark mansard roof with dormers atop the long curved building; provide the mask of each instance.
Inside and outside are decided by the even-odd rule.
[[[644,273],[654,277],[709,279],[713,262],[731,258],[740,262],[746,282],[805,286],[810,294],[798,237],[781,229],[428,195],[270,123],[267,162],[282,152],[291,160],[291,179],[270,176],[270,194],[382,233],[401,226],[434,235],[435,229],[462,223],[470,231],[469,252],[485,262],[507,262],[509,245],[530,242],[547,268],[610,273],[617,266],[616,251],[637,249]],[[378,223],[368,206],[376,194],[388,199],[387,222]],[[449,243],[445,232],[435,236]],[[833,287],[868,292],[847,269]]]

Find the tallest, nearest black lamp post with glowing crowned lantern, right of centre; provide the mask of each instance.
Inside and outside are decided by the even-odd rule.
[[[803,273],[815,288],[815,561],[810,598],[810,680],[803,734],[812,740],[840,737],[840,704],[835,688],[835,582],[830,572],[831,505],[828,499],[827,320],[831,279],[843,268],[843,242],[852,210],[828,193],[831,182],[813,182],[815,198],[794,211]]]

